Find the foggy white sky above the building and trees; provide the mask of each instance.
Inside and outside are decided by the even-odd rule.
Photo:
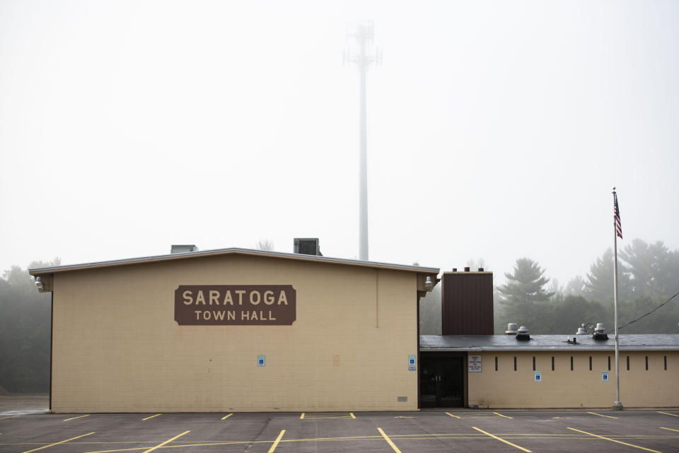
[[[370,259],[560,283],[679,248],[677,1],[0,0],[0,271],[320,237]]]

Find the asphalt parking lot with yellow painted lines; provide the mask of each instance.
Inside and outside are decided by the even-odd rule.
[[[0,413],[0,452],[679,452],[679,409]]]

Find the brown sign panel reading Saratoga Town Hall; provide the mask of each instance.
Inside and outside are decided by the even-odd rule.
[[[278,325],[296,319],[292,285],[180,285],[175,321],[180,326]]]

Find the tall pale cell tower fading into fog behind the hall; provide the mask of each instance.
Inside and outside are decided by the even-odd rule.
[[[358,44],[357,52],[344,52],[344,63],[356,63],[360,78],[359,105],[359,259],[368,260],[368,131],[366,126],[366,72],[373,63],[381,61],[380,52],[368,52],[368,44],[373,40],[373,23],[356,24],[347,31]]]

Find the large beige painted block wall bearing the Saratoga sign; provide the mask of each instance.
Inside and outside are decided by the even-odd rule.
[[[175,289],[201,284],[290,284],[297,320],[179,326]],[[56,412],[415,410],[416,353],[409,271],[227,255],[54,276]]]

